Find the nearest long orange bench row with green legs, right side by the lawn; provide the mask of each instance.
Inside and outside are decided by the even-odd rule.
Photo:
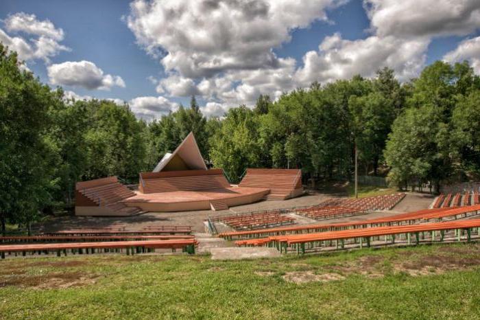
[[[239,240],[237,246],[276,247],[287,253],[296,251],[320,251],[352,249],[372,245],[420,244],[420,242],[466,240],[480,238],[480,219],[449,222],[429,222],[419,225],[398,225],[394,227],[369,227],[355,230],[329,231],[288,236],[271,236],[263,239]]]

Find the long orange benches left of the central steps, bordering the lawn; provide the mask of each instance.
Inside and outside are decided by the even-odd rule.
[[[136,230],[125,227],[69,229],[36,236],[0,237],[0,255],[60,253],[119,253],[154,252],[156,249],[182,249],[195,253],[197,241],[190,235],[189,226],[150,226]]]

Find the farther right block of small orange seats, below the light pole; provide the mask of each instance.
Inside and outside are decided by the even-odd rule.
[[[405,198],[404,193],[387,194],[385,196],[368,196],[365,198],[330,198],[317,207],[348,207],[360,210],[391,210]]]

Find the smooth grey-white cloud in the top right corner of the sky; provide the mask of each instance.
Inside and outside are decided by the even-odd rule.
[[[466,35],[480,27],[478,0],[367,0],[365,8],[378,36]]]

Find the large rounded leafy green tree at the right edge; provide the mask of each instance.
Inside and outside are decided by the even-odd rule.
[[[477,161],[478,141],[471,137],[479,108],[478,83],[465,63],[440,61],[413,81],[409,108],[395,120],[385,149],[393,185],[429,181],[438,191],[441,181]]]

